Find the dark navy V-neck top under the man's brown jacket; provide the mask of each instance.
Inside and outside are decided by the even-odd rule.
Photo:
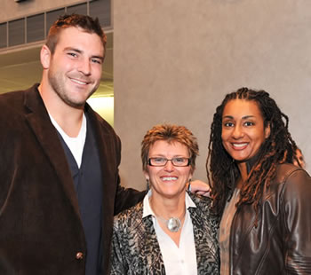
[[[85,275],[94,275],[100,274],[100,255],[102,254],[102,246],[100,245],[102,177],[98,147],[94,138],[92,125],[90,125],[91,123],[87,115],[85,117],[87,130],[80,169],[68,145],[60,133],[58,134],[67,156],[71,175],[74,179],[80,215],[84,226],[86,240]]]

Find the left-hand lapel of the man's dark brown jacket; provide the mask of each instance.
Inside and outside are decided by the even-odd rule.
[[[55,173],[60,178],[60,183],[76,212],[76,216],[81,221],[74,183],[66,155],[57,131],[52,125],[44,102],[36,88],[37,85],[25,91],[24,105],[28,110],[25,114],[26,120],[34,132],[38,143],[41,145],[43,152],[46,154],[47,159],[51,162]]]

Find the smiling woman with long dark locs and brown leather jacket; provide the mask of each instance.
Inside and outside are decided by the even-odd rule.
[[[219,228],[220,274],[311,272],[311,178],[288,117],[264,90],[227,94],[206,162]]]

